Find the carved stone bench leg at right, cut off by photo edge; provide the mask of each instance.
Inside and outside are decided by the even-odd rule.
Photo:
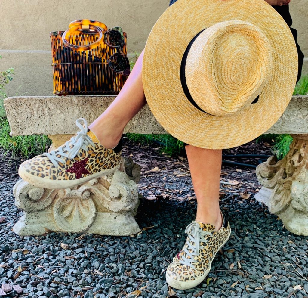
[[[291,135],[290,151],[282,159],[271,156],[257,166],[263,185],[255,198],[279,216],[286,229],[308,235],[308,135]]]

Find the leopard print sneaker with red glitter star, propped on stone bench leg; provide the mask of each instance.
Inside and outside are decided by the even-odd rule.
[[[82,125],[83,123],[83,125]],[[103,147],[83,118],[76,120],[81,129],[69,141],[50,153],[22,162],[19,176],[38,187],[72,188],[91,179],[113,173],[120,167],[122,142]]]

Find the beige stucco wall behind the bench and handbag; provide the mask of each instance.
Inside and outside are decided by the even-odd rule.
[[[189,0],[188,0],[189,1]],[[307,0],[290,3],[298,42],[308,57]],[[49,32],[66,30],[69,22],[89,18],[128,34],[128,56],[141,52],[148,34],[169,0],[0,0],[0,70],[14,67],[7,96],[52,95]],[[308,59],[304,71],[308,73]]]

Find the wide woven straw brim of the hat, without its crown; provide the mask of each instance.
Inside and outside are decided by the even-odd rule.
[[[242,20],[260,28],[273,49],[273,68],[256,103],[232,116],[212,116],[183,91],[180,66],[195,35],[217,22]],[[149,108],[168,133],[187,144],[226,149],[268,130],[289,104],[298,72],[293,35],[264,0],[178,0],[155,23],[143,56],[142,81]]]

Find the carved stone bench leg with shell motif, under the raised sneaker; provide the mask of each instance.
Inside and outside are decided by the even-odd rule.
[[[65,141],[60,139],[55,148]],[[20,236],[43,235],[49,230],[115,236],[135,234],[140,231],[134,218],[140,202],[139,179],[140,166],[127,157],[122,158],[120,169],[114,173],[71,189],[38,188],[20,179],[13,193],[15,205],[24,214],[13,231]]]

